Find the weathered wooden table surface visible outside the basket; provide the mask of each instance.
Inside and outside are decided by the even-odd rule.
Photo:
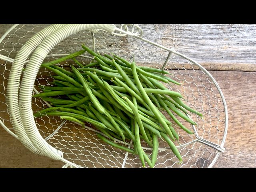
[[[144,38],[200,63],[218,82],[228,106],[228,134],[216,168],[256,167],[256,25],[141,24]],[[0,25],[0,36],[10,25]],[[0,60],[0,63],[3,61]],[[59,168],[0,127],[0,167]]]

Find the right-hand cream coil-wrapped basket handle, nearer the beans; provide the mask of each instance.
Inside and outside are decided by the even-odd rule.
[[[82,30],[93,28],[103,29],[111,33],[115,30],[116,26],[106,24],[66,24],[61,28],[58,28],[36,47],[27,64],[26,73],[20,83],[19,110],[22,112],[20,113],[20,116],[26,134],[39,151],[56,160],[62,160],[62,152],[50,146],[50,144],[42,138],[34,121],[32,112],[32,89],[38,70],[50,50],[68,36]],[[19,60],[17,56],[16,59]]]

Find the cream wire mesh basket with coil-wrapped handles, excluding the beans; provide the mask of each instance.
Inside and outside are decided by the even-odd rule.
[[[174,143],[183,159],[179,163],[170,147],[159,140],[156,168],[212,167],[220,152],[228,128],[228,112],[220,87],[210,73],[192,59],[142,38],[143,30],[134,25],[16,24],[0,38],[0,124],[28,150],[56,160],[70,167],[86,168],[139,168],[137,155],[128,154],[98,139],[98,132],[90,124],[61,120],[59,117],[34,118],[33,113],[51,107],[40,98],[32,98],[41,90],[38,85],[52,82],[51,72],[40,68],[42,62],[66,56],[81,50],[81,44],[100,54],[114,53],[136,64],[164,69],[181,85],[168,89],[180,92],[184,103],[203,114],[203,118],[190,113],[197,123],[191,125],[176,116],[182,124],[193,129],[190,135],[174,127],[179,143]],[[93,58],[87,52],[77,58],[88,64]],[[61,62],[62,68],[74,64],[72,59]],[[22,70],[26,67],[26,70]],[[172,121],[168,114],[164,113]],[[100,132],[98,132],[100,133]],[[124,143],[133,148],[132,143]],[[152,149],[143,145],[146,154]]]

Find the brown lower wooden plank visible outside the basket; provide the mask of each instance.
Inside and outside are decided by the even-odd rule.
[[[214,167],[256,166],[255,72],[212,71],[228,106],[228,134]],[[61,167],[62,162],[32,154],[19,141],[0,129],[1,167]],[[15,146],[14,146],[15,145]]]

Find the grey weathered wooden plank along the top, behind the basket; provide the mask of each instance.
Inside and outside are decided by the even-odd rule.
[[[0,36],[10,26],[2,24]],[[168,48],[174,47],[176,51],[202,64],[207,70],[256,71],[255,24],[141,24],[140,26],[144,30],[144,38]],[[25,34],[26,37],[29,37],[34,34],[32,30],[42,29],[41,27],[34,29],[34,27],[28,26],[26,31],[20,29],[15,35],[10,36],[7,42],[4,40],[4,50],[1,50],[2,45],[0,44],[0,54],[10,54],[11,56],[16,54],[21,44],[27,40],[27,38],[20,39],[20,37]],[[90,36],[87,35],[82,39],[81,36],[74,35],[70,40],[62,42],[59,47],[60,51],[65,53],[65,46],[70,50],[77,49],[80,47],[81,40],[90,42]],[[97,40],[98,47],[96,46],[96,48],[102,50],[106,48],[118,49],[118,46],[122,46],[129,53],[126,46],[131,45],[125,38],[120,38],[121,42],[105,38],[98,38]],[[125,41],[122,42],[122,40]],[[150,50],[149,45],[143,44],[143,46]],[[5,50],[12,52],[9,53]],[[157,58],[154,60],[157,61]],[[157,62],[161,63],[162,60]]]

